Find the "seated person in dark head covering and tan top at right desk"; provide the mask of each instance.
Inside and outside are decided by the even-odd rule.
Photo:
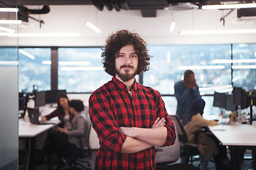
[[[195,143],[194,131],[201,130],[209,125],[218,125],[218,120],[206,120],[203,118],[205,105],[206,102],[202,98],[198,98],[193,101],[191,108],[183,116],[182,124],[190,143]],[[215,137],[206,135],[205,132],[200,132],[197,140],[202,169],[207,169],[208,161],[211,157],[214,157],[215,169],[223,169],[223,161],[228,161],[226,147],[219,145]]]

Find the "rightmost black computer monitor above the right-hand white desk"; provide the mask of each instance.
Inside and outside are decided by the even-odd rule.
[[[233,88],[233,98],[235,106],[240,106],[242,109],[249,107],[247,92],[242,87]]]

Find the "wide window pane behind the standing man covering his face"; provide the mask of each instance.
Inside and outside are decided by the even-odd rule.
[[[152,45],[153,57],[149,72],[144,73],[144,84],[161,94],[174,94],[174,84],[181,81],[183,72],[191,69],[203,94],[213,94],[215,86],[231,85],[230,45]]]

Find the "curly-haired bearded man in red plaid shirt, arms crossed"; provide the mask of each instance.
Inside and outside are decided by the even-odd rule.
[[[173,145],[176,134],[159,92],[135,79],[149,70],[146,42],[128,30],[106,42],[102,62],[113,78],[89,98],[100,140],[95,169],[155,169],[154,146]]]

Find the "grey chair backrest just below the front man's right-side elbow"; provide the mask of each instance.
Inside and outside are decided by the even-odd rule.
[[[176,129],[176,126],[175,126],[175,129]],[[176,135],[177,135],[177,130],[176,130]],[[178,137],[176,137],[174,145],[159,147],[159,150],[161,151],[156,152],[156,164],[159,164],[159,163],[171,164],[173,162],[176,162],[180,157],[180,153],[181,153]]]

